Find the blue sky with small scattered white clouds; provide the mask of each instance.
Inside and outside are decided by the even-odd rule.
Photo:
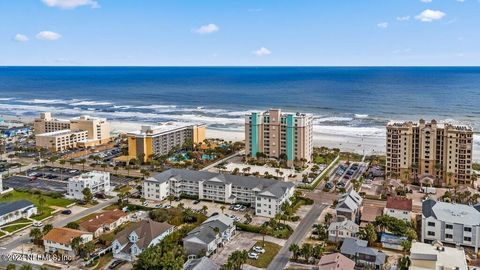
[[[480,65],[480,0],[0,0],[0,65]]]

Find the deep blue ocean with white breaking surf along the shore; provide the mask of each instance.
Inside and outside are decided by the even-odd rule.
[[[313,113],[316,134],[356,144],[384,143],[390,119],[478,132],[480,67],[0,67],[0,115],[202,122],[241,134],[245,113],[268,108]]]

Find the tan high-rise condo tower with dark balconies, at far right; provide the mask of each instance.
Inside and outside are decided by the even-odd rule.
[[[387,124],[386,173],[432,185],[471,184],[473,131],[449,123]]]

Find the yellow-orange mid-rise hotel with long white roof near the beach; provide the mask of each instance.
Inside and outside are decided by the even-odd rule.
[[[142,126],[141,130],[130,132],[128,137],[128,156],[144,161],[153,155],[166,155],[175,147],[184,143],[201,143],[205,140],[205,125]]]

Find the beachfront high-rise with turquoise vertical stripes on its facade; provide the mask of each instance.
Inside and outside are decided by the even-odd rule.
[[[282,113],[280,109],[245,115],[246,154],[256,157],[286,157],[310,161],[313,152],[313,116],[305,113]]]

